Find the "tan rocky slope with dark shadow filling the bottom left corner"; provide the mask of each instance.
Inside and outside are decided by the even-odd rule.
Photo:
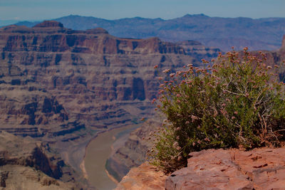
[[[80,189],[80,177],[48,144],[0,132],[0,187]],[[78,181],[76,181],[78,179]]]

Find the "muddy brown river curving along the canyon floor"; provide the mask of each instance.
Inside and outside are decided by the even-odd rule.
[[[117,140],[115,137],[125,137],[123,133],[135,129],[134,125],[120,127],[98,134],[86,147],[84,164],[88,181],[98,190],[114,189],[117,184],[111,180],[105,170],[105,162],[112,152],[112,145]]]

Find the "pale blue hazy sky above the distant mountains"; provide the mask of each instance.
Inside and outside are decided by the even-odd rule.
[[[285,17],[285,0],[0,0],[0,20],[55,19],[70,14],[103,19],[173,19],[185,14]]]

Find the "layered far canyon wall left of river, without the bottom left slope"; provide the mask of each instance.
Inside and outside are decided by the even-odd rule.
[[[74,31],[44,21],[0,28],[0,51],[0,131],[48,144],[74,169],[78,188],[91,188],[80,167],[87,144],[101,132],[153,116],[161,75],[155,65],[172,72],[200,66],[200,58],[214,58],[219,49],[196,41],[117,38],[103,28]]]

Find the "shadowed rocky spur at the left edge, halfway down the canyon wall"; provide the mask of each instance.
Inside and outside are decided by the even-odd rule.
[[[45,135],[45,131],[39,132],[38,127],[35,126],[56,125],[68,121],[68,113],[64,110],[63,106],[58,103],[55,97],[46,97],[45,93],[40,95],[39,93],[28,92],[28,90],[21,90],[19,92],[21,96],[19,97],[11,97],[9,91],[12,93],[16,91],[16,89],[7,90],[7,88],[2,87],[1,90],[8,91],[0,95],[0,120],[3,121],[3,130],[6,128],[4,127],[5,125],[17,124],[23,126],[23,128],[26,126],[27,129],[33,128],[35,130],[33,131],[34,133],[28,133],[28,131],[25,132],[25,130],[21,130],[21,127],[17,127],[18,130],[15,131],[14,134],[41,137]],[[17,90],[19,90],[19,87]],[[15,98],[17,98],[17,100],[15,100]],[[9,131],[9,128],[6,130]],[[16,130],[16,128],[11,130]]]

